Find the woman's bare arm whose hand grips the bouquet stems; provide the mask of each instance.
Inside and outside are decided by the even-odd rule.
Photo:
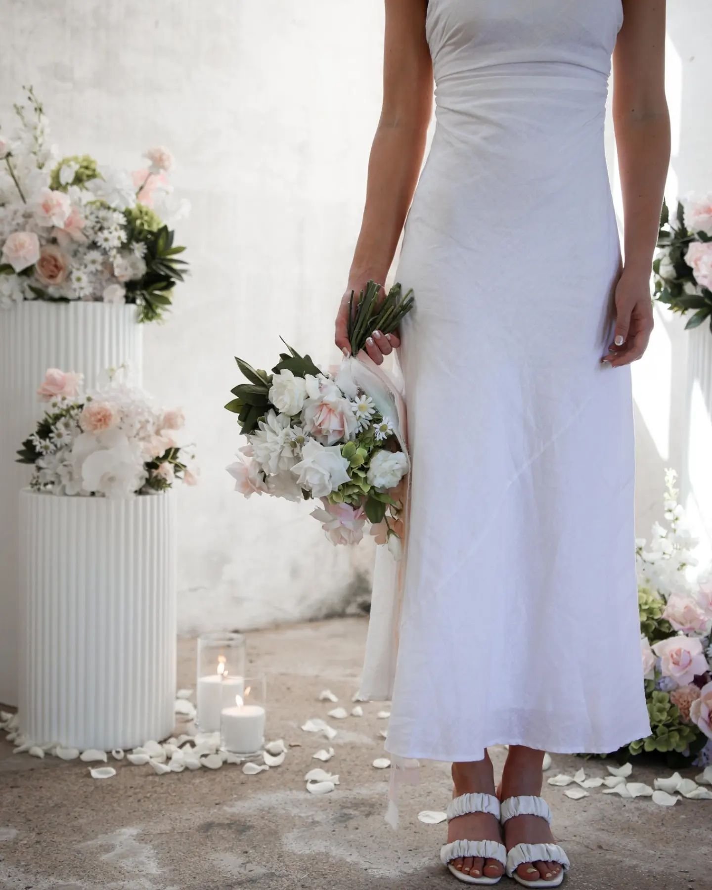
[[[336,345],[350,354],[348,297],[368,279],[383,284],[423,163],[433,107],[433,67],[425,39],[426,0],[385,0],[384,98],[368,161],[366,206],[348,287],[336,316]],[[378,342],[376,342],[378,341]],[[367,345],[380,364],[398,337]]]

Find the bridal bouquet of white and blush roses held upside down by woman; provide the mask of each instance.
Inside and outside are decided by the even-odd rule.
[[[369,282],[354,302],[349,339],[356,355],[378,329],[395,330],[412,295],[392,287],[378,302]],[[376,366],[344,360],[334,373],[290,346],[268,374],[236,359],[247,383],[225,408],[237,413],[247,445],[228,472],[246,498],[318,499],[312,516],[333,544],[356,544],[366,522],[377,543],[401,554],[404,477],[409,469],[392,393]]]

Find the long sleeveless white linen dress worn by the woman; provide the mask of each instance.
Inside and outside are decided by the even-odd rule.
[[[619,235],[603,151],[621,0],[430,0],[437,126],[396,274],[407,559],[376,564],[363,699],[396,758],[650,733]],[[383,549],[383,548],[382,548]],[[398,588],[398,589],[397,589]]]

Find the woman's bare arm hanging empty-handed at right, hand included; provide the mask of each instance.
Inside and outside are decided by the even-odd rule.
[[[670,159],[665,99],[665,0],[623,0],[613,53],[613,121],[623,192],[624,266],[616,287],[616,330],[604,357],[639,359],[652,330],[650,277]]]

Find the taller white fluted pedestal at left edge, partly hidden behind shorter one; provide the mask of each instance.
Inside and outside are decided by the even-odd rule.
[[[17,504],[30,470],[15,463],[43,406],[47,368],[80,371],[92,387],[106,368],[130,365],[141,382],[142,326],[136,307],[109,303],[20,303],[0,310],[0,702],[17,704]]]

